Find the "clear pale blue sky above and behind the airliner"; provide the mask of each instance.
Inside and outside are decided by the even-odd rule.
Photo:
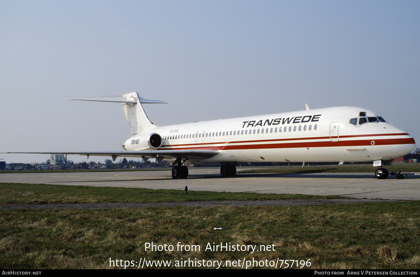
[[[158,126],[361,106],[420,141],[417,0],[0,0],[0,37],[0,152],[120,151],[121,105],[68,97],[132,91]]]

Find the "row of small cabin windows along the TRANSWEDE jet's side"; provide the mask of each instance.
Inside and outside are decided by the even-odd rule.
[[[288,127],[280,127],[280,128],[263,128],[263,129],[250,129],[248,131],[248,129],[246,130],[238,130],[236,131],[227,131],[227,132],[210,132],[210,133],[206,133],[205,136],[206,137],[222,137],[222,136],[232,136],[232,135],[253,135],[253,134],[268,134],[270,133],[281,133],[281,132],[296,132],[296,131],[306,131],[312,130],[312,124],[310,124],[309,126],[306,125],[299,125],[299,126],[293,126],[293,128],[291,126]],[[313,129],[316,130],[318,129],[318,124],[315,124],[313,126]],[[201,137],[201,133],[196,133],[196,134],[189,134],[189,135],[171,135],[171,136],[165,136],[163,137],[163,140],[175,140],[175,139],[182,139],[182,138],[194,138],[194,137]],[[203,134],[204,136],[204,134]]]

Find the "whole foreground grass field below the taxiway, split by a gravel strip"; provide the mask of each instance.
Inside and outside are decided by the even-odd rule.
[[[183,192],[173,190],[30,184],[1,184],[0,190],[3,205],[130,202],[143,197],[141,201],[150,202],[185,200]],[[191,195],[208,200],[307,197],[193,191]],[[419,204],[0,210],[0,268],[107,269],[123,268],[123,261],[128,261],[127,268],[136,268],[144,259],[171,265],[143,268],[218,267],[197,266],[203,260],[219,261],[220,267],[237,268],[238,264],[226,263],[239,260],[254,261],[252,268],[273,268],[270,261],[274,265],[280,259],[295,260],[293,265],[288,262],[292,268],[415,269],[420,267]],[[174,249],[152,251],[146,243]],[[220,243],[271,248],[253,253],[206,250]],[[182,251],[177,244],[184,246]],[[194,251],[185,250],[193,245]],[[196,264],[180,264],[188,260]]]

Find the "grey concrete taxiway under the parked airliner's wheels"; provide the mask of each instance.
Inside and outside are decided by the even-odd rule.
[[[2,173],[0,182],[77,186],[121,186],[215,192],[339,195],[356,198],[420,200],[420,176],[378,180],[373,173],[239,173],[222,177],[220,169],[190,168],[187,179],[171,171]]]

